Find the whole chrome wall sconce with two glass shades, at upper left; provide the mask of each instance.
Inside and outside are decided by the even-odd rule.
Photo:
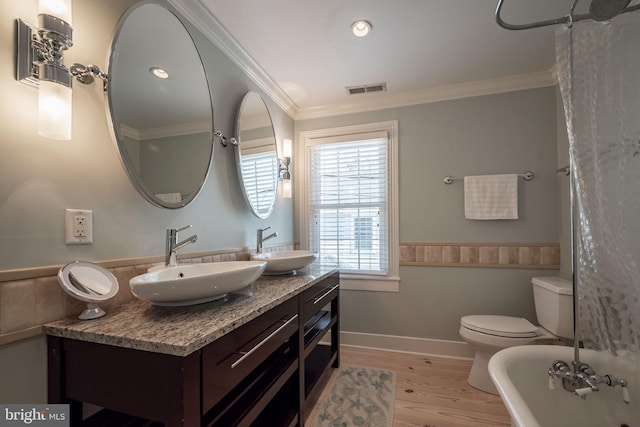
[[[39,0],[38,28],[17,20],[16,80],[38,87],[38,133],[54,139],[71,139],[73,77],[84,84],[101,78],[107,89],[107,75],[97,66],[62,63],[72,32],[71,0]]]

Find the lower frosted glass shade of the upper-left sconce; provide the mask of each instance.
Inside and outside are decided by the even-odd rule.
[[[71,139],[71,88],[40,80],[38,133],[54,139]]]

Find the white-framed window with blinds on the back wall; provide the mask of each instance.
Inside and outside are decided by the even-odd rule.
[[[303,132],[306,225],[346,289],[397,291],[397,122]]]

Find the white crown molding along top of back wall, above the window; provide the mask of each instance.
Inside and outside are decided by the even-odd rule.
[[[352,95],[352,98],[354,99],[350,100],[348,103],[299,108],[296,120],[317,119],[321,117],[405,107],[409,105],[428,104],[431,102],[548,87],[554,86],[555,84],[556,79],[552,75],[551,71],[541,71],[518,76],[440,86],[418,91]]]

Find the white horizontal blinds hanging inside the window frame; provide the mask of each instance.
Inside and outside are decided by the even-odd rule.
[[[375,134],[309,147],[310,246],[344,272],[388,271],[388,138]]]

